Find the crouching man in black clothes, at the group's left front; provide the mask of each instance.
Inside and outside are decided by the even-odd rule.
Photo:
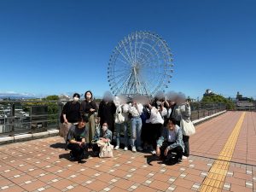
[[[87,132],[85,124],[88,122],[86,116],[79,117],[79,124],[72,125],[67,133],[67,148],[70,149],[70,160],[78,160],[79,163],[88,155],[88,147],[85,143]]]

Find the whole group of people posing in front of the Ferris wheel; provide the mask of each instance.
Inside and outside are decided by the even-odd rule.
[[[88,148],[98,155],[96,141],[113,143],[113,135],[116,150],[123,143],[125,151],[130,145],[132,152],[149,149],[175,163],[189,156],[189,137],[183,135],[180,121],[189,121],[191,111],[183,94],[158,93],[151,101],[146,96],[113,97],[107,92],[97,105],[87,90],[84,101],[79,99],[78,93],[73,94],[73,101],[67,102],[61,113],[61,132],[71,150],[71,159],[82,160]]]

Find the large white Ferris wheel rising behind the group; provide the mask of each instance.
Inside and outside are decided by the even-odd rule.
[[[113,95],[153,96],[172,78],[171,49],[153,32],[132,32],[113,49],[108,83]]]

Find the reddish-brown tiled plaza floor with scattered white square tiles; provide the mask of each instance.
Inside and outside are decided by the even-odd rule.
[[[174,166],[122,149],[78,164],[67,160],[61,137],[2,145],[0,192],[199,191],[240,116],[228,112],[197,125],[189,159]],[[222,191],[256,192],[256,113],[246,113]]]

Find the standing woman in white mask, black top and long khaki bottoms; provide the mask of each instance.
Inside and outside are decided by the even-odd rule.
[[[88,117],[88,123],[86,123],[87,136],[86,142],[90,143],[92,138],[95,135],[95,113],[97,111],[96,102],[93,100],[92,93],[90,90],[87,90],[84,93],[84,101],[81,103],[80,112]]]

